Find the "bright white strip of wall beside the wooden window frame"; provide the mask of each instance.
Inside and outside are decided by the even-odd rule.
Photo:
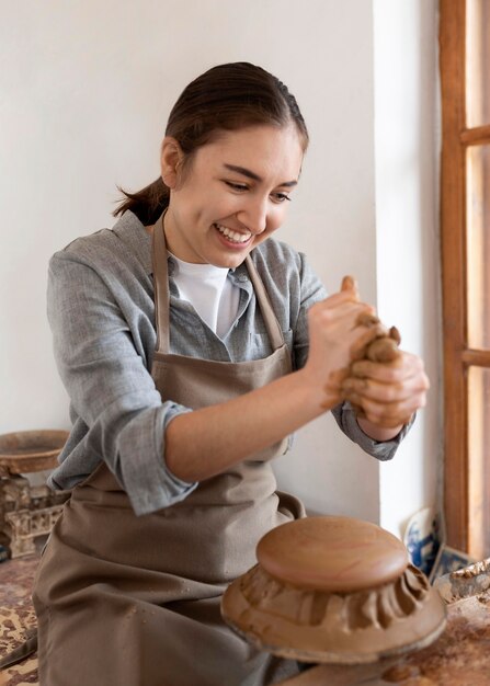
[[[380,469],[380,524],[434,505],[442,461],[435,0],[375,0],[377,300],[431,380],[428,407]]]

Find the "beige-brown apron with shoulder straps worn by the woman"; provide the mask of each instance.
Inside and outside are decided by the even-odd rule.
[[[248,258],[273,354],[223,363],[169,353],[162,221],[153,228],[157,350],[162,400],[192,409],[290,371],[290,355]],[[192,436],[189,436],[192,441]],[[275,492],[270,458],[286,441],[200,483],[183,502],[136,517],[105,464],[73,489],[36,579],[41,686],[252,686],[296,674],[296,664],[252,649],[223,622],[220,596],[255,563],[261,536],[304,516]]]

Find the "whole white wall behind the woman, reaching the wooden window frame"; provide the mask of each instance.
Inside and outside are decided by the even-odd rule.
[[[343,274],[356,275],[363,297],[378,300],[381,317],[400,323],[407,346],[437,373],[436,288],[428,278],[436,255],[424,238],[434,226],[434,146],[431,135],[423,138],[433,122],[434,8],[435,0],[0,0],[0,432],[68,427],[45,317],[48,258],[111,226],[116,184],[138,188],[158,175],[172,103],[192,78],[223,61],[244,59],[276,73],[309,125],[311,148],[282,237],[309,254],[329,290]],[[401,20],[423,32],[425,46],[417,32],[404,36]],[[396,96],[415,111],[394,132],[396,145],[380,137],[392,73],[380,69],[374,45],[391,24],[404,36],[411,79]],[[400,46],[383,46],[388,60],[392,52],[402,61]],[[375,152],[391,147],[384,176]],[[403,173],[407,155],[413,193],[398,203],[410,218],[397,225],[395,240],[387,179]],[[404,259],[406,247],[418,266],[400,268],[394,290],[386,264],[400,252]],[[387,285],[401,310],[386,299]],[[437,392],[432,402],[389,478],[324,418],[277,465],[282,487],[312,511],[396,528],[433,498]],[[401,507],[399,489],[408,489]]]

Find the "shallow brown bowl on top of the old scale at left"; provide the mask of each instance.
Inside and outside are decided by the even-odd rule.
[[[54,469],[68,432],[20,431],[0,435],[0,470],[12,475]]]

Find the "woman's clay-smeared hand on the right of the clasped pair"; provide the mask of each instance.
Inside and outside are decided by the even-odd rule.
[[[398,433],[425,405],[429,379],[422,359],[400,351],[390,363],[354,362],[342,388],[345,398],[362,408],[365,418],[360,424],[366,433],[372,434],[368,424]]]

